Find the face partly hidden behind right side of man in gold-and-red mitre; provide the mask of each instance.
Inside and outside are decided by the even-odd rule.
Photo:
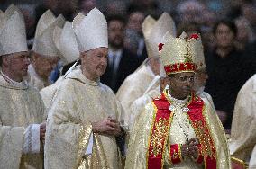
[[[197,70],[196,75],[195,75],[195,84],[194,84],[195,92],[203,92],[204,91],[207,79],[208,79],[208,75],[206,73],[206,68]],[[198,91],[198,90],[200,90],[200,91]]]

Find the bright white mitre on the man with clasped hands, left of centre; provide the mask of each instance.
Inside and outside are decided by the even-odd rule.
[[[72,23],[79,52],[100,47],[108,48],[107,22],[98,9],[92,9],[87,16],[79,13]]]

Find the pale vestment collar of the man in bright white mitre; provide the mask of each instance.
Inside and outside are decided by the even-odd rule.
[[[98,78],[96,81],[92,81],[87,79],[86,76],[82,73],[81,66],[78,65],[75,67],[69,74],[65,76],[65,78],[77,80],[83,84],[97,86],[100,84],[100,79]]]

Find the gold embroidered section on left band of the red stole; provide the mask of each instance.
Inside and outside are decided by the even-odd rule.
[[[152,149],[149,152],[149,156],[160,156],[162,154],[162,148],[165,146],[165,139],[169,134],[169,120],[160,118],[155,123],[155,128],[151,134]]]

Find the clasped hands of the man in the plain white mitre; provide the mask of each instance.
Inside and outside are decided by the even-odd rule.
[[[92,123],[94,133],[103,135],[119,136],[122,134],[120,124],[112,117]]]

